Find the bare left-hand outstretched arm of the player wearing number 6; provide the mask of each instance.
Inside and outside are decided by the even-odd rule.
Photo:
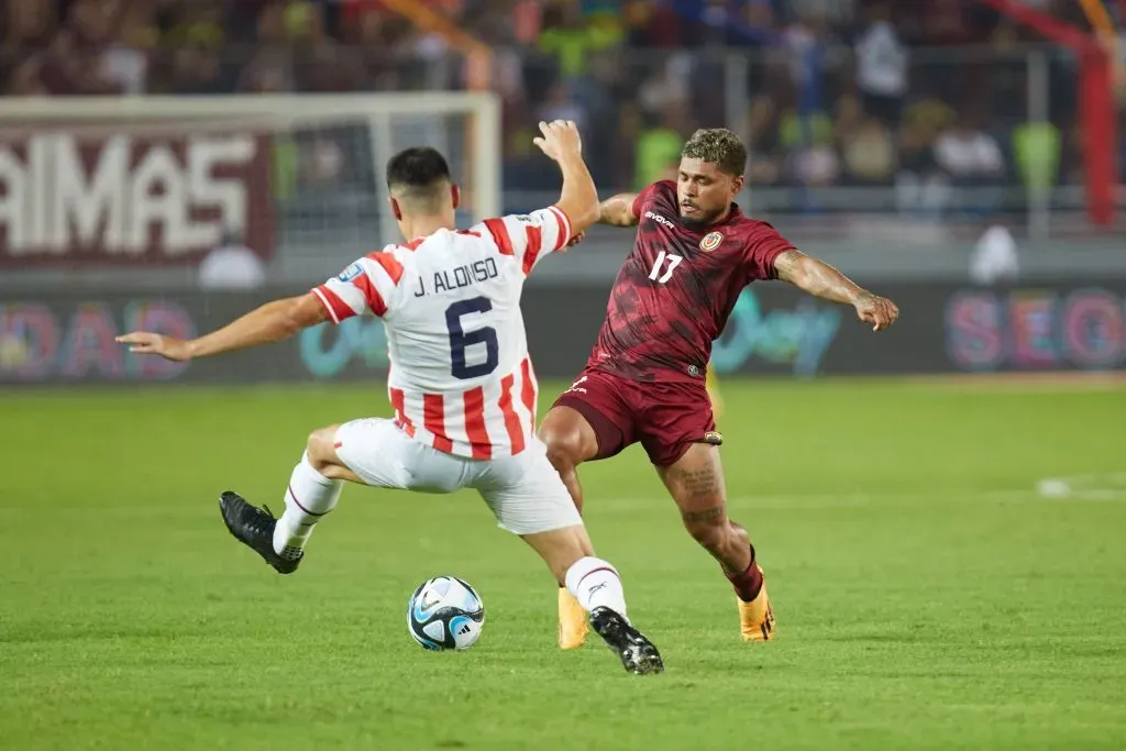
[[[173,339],[149,331],[133,331],[117,341],[138,355],[160,355],[182,363],[194,357],[218,355],[234,349],[286,339],[302,329],[323,323],[329,313],[316,295],[309,293],[266,303],[227,325],[197,339]]]

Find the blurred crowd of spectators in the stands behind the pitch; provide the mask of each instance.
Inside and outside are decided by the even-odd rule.
[[[1073,0],[1025,1],[1085,27]],[[683,137],[718,124],[748,140],[753,185],[894,185],[924,207],[949,186],[1082,181],[1075,61],[967,0],[411,2],[492,50],[510,189],[556,182],[531,144],[556,117],[580,124],[596,178],[618,188],[669,175]],[[0,90],[464,88],[464,57],[401,5],[0,0]],[[1029,119],[1033,47],[1044,123]]]

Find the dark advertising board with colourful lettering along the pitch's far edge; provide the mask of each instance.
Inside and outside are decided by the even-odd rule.
[[[244,293],[82,294],[0,298],[0,383],[262,383],[378,379],[383,323],[325,323],[291,340],[188,364],[136,357],[114,341],[150,330],[188,338],[294,289]],[[854,311],[781,284],[748,287],[715,342],[721,375],[811,378],[1126,368],[1126,280],[1013,287],[893,285],[901,309],[874,333]],[[534,287],[521,304],[540,378],[583,367],[608,286]]]

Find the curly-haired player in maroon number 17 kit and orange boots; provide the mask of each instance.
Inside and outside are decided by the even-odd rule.
[[[700,129],[685,144],[676,181],[602,202],[599,222],[637,226],[610,293],[606,321],[586,369],[539,428],[547,455],[582,510],[575,467],[640,441],[685,528],[721,564],[739,604],[748,642],[771,638],[774,611],[747,530],[727,517],[726,492],[705,373],[712,342],[740,292],[780,279],[851,305],[883,331],[896,306],[787,242],[734,203],[747,149],[725,128]],[[560,590],[560,646],[580,646],[582,609]]]

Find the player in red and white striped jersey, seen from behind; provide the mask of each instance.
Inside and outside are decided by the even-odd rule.
[[[566,486],[536,437],[536,377],[520,313],[524,281],[599,216],[574,123],[540,123],[536,144],[563,172],[554,206],[457,230],[458,188],[434,149],[387,166],[391,206],[406,241],[369,253],[305,295],[279,299],[213,333],[181,341],[134,332],[131,351],[172,360],[217,355],[354,315],[383,319],[393,419],[313,431],[279,519],[224,492],[227,529],[279,573],[337,504],[343,481],[431,493],[473,488],[500,525],[544,558],[589,614],[590,627],[634,673],[663,670],[656,647],[626,616],[617,571],[595,556]]]

